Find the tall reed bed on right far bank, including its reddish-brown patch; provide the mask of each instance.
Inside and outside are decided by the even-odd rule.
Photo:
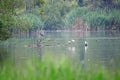
[[[120,30],[120,11],[118,9],[91,10],[88,7],[78,7],[66,17],[67,25],[72,25],[76,30],[88,28],[89,30]],[[70,20],[72,19],[72,20]]]

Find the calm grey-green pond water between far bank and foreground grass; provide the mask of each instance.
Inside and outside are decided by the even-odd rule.
[[[41,46],[36,47],[40,37]],[[85,41],[88,46],[85,46]],[[4,49],[0,45],[0,60],[5,61],[12,57],[17,65],[37,57],[40,60],[54,59],[57,63],[62,59],[69,59],[73,63],[80,62],[84,67],[99,64],[110,69],[120,67],[119,31],[45,31],[44,36],[22,35],[11,38],[4,44]]]

